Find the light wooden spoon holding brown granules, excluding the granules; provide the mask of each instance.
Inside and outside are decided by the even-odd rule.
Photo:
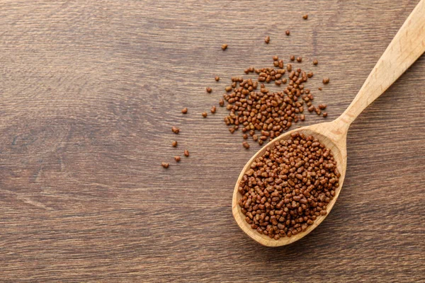
[[[256,152],[254,156],[246,163],[242,169],[237,183],[234,186],[233,199],[232,199],[232,212],[234,219],[241,229],[248,234],[255,241],[261,243],[263,246],[277,247],[288,245],[300,238],[306,236],[313,231],[331,211],[336,202],[336,199],[341,192],[342,184],[344,183],[346,165],[347,165],[347,151],[346,151],[346,137],[348,127],[356,119],[356,117],[380,96],[392,83],[394,83],[399,76],[401,76],[407,68],[418,59],[422,53],[425,52],[425,0],[419,1],[416,8],[409,15],[409,18],[404,22],[402,28],[399,29],[397,35],[385,50],[382,57],[378,60],[373,70],[370,72],[368,79],[366,79],[361,90],[354,98],[351,105],[348,106],[346,111],[332,122],[325,122],[317,125],[302,127],[300,129],[293,129],[290,132],[276,137],[270,141],[266,146]],[[337,162],[337,168],[341,173],[339,180],[339,187],[336,190],[335,197],[329,202],[327,206],[327,214],[319,216],[310,225],[306,231],[298,233],[290,238],[282,237],[279,240],[274,240],[266,235],[258,233],[256,230],[251,229],[251,226],[246,223],[245,216],[239,207],[239,199],[242,197],[238,192],[239,182],[242,180],[244,173],[249,170],[249,166],[255,158],[261,156],[268,147],[273,146],[275,142],[281,139],[288,139],[291,133],[302,132],[306,135],[312,135],[319,139],[323,144],[331,149],[332,154]]]

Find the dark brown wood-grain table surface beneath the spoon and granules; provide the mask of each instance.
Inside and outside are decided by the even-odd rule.
[[[238,228],[259,146],[225,109],[200,115],[230,76],[295,54],[338,117],[416,3],[0,1],[0,280],[424,282],[424,56],[353,123],[336,206],[290,246]]]

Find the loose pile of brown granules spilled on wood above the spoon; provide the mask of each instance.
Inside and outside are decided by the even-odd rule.
[[[295,56],[291,59],[295,60]],[[302,58],[297,57],[297,62],[301,61]],[[305,83],[314,75],[311,71],[307,73],[300,68],[293,70],[293,64],[287,64],[284,69],[283,60],[277,56],[273,57],[273,66],[276,69],[246,69],[245,74],[258,74],[257,80],[233,77],[232,84],[225,88],[226,93],[223,95],[230,112],[225,117],[226,125],[231,126],[229,131],[234,133],[241,128],[244,139],[249,134],[260,145],[289,129],[294,122],[304,121],[305,108],[327,117],[327,112],[322,112],[327,105],[315,107],[310,89],[305,88]],[[288,79],[283,77],[285,74],[288,74]],[[277,86],[288,84],[283,91],[272,92],[263,84],[271,81]],[[224,101],[220,100],[219,105],[224,106]]]

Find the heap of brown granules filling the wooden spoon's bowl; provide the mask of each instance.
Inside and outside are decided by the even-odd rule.
[[[252,229],[276,240],[326,215],[341,176],[330,149],[298,132],[276,141],[250,167],[239,183],[239,207]]]

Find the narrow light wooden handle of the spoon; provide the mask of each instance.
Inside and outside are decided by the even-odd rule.
[[[356,98],[339,117],[346,127],[425,52],[425,0],[419,1],[378,60]]]

